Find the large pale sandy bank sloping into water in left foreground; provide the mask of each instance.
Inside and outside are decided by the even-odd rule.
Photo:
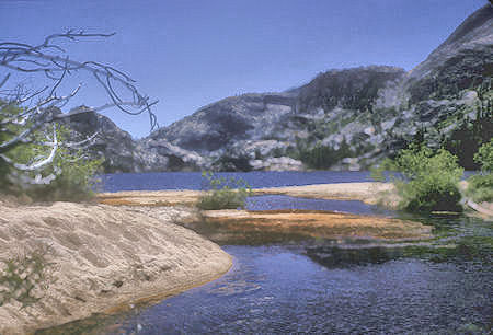
[[[10,299],[0,307],[0,334],[32,333],[159,301],[230,268],[231,257],[218,245],[171,221],[106,205],[0,200],[0,259],[20,259],[14,261],[18,278],[28,280],[22,259],[34,252],[43,259],[35,278],[45,276],[28,292],[30,305]],[[0,290],[18,298],[26,288],[3,282]]]

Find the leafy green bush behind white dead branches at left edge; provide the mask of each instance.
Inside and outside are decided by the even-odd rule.
[[[21,114],[22,108],[10,106],[11,114]],[[0,115],[1,119],[1,115]],[[24,129],[22,125],[11,125],[11,134],[15,135]],[[89,160],[84,155],[82,147],[70,143],[70,130],[65,126],[53,124],[53,135],[48,140],[58,141],[56,151],[46,146],[45,131],[33,132],[33,140],[23,146],[18,146],[4,153],[7,161],[15,162],[15,166],[28,166],[39,158],[48,158],[53,151],[53,159],[39,170],[27,170],[19,173],[5,164],[5,159],[0,160],[3,180],[1,190],[11,194],[26,194],[35,200],[84,200],[93,195],[93,175],[100,170],[102,160]],[[31,183],[41,180],[41,173],[50,175],[51,178],[42,183]]]

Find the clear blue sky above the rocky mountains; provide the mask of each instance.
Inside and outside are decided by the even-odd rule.
[[[284,91],[334,68],[410,70],[486,0],[0,0],[0,42],[37,44],[68,28],[117,34],[70,45],[117,67],[160,101],[161,126],[248,92]],[[93,82],[80,99],[95,105]],[[146,117],[108,111],[139,138]]]

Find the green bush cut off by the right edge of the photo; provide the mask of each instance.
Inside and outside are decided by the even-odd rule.
[[[469,177],[467,195],[477,203],[493,201],[493,139],[480,147],[474,161],[481,165],[481,174]]]

